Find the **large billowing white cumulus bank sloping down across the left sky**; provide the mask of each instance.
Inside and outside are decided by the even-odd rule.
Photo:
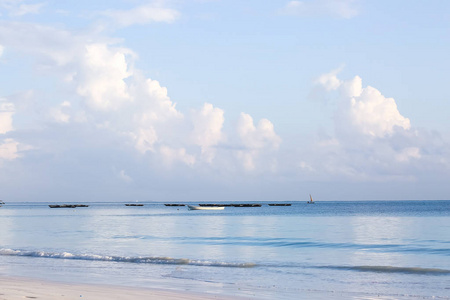
[[[119,46],[120,41],[17,22],[0,23],[0,39],[2,45],[16,50],[15,54],[35,58],[40,75],[55,76],[71,92],[67,100],[51,95],[47,99],[52,100],[39,101],[39,108],[35,107],[46,112],[36,120],[46,116],[60,123],[54,134],[73,130],[79,144],[91,147],[83,141],[83,131],[78,131],[90,128],[89,136],[98,136],[91,138],[94,147],[100,147],[108,136],[129,147],[127,151],[135,151],[132,155],[168,168],[225,166],[235,171],[242,165],[246,170],[276,165],[272,154],[281,139],[269,120],[255,125],[250,115],[242,114],[237,131],[227,133],[224,111],[210,103],[183,114],[166,87],[135,67],[137,55]],[[42,90],[38,94],[46,97],[43,95],[54,92]],[[14,111],[7,107],[13,108],[5,106],[1,112],[4,132],[12,130]],[[46,151],[45,143],[38,143],[38,151]]]

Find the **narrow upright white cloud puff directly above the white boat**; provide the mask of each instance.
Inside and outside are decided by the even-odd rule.
[[[225,121],[224,111],[205,103],[200,111],[192,112],[194,144],[201,147],[202,156],[211,163],[215,150],[212,148],[223,140],[222,127]]]

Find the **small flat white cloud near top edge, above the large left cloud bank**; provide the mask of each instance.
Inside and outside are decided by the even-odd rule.
[[[111,17],[120,26],[143,25],[151,22],[172,23],[180,15],[178,11],[162,7],[157,3],[149,3],[130,10],[109,10],[103,14]]]

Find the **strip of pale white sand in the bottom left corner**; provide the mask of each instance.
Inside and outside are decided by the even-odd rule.
[[[175,299],[244,299],[194,292],[166,291],[151,288],[109,285],[69,284],[38,279],[0,277],[0,300],[16,299],[83,299],[83,300],[175,300]]]

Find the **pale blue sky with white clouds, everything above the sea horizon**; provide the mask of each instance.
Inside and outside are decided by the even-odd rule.
[[[450,199],[450,2],[0,0],[0,199]]]

